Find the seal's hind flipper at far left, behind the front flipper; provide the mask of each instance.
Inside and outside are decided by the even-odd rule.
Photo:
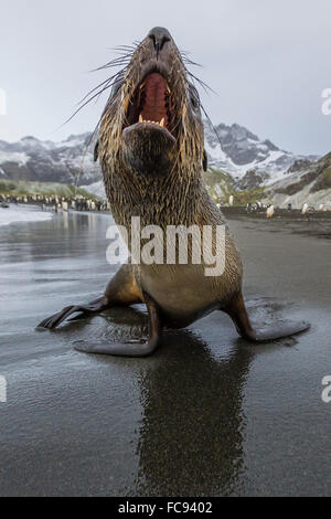
[[[107,308],[109,308],[109,300],[106,296],[103,296],[98,299],[95,299],[94,301],[87,303],[87,305],[67,306],[62,311],[58,311],[54,316],[44,319],[40,325],[38,325],[36,328],[54,330],[57,326],[61,325],[61,322],[68,319],[68,317],[73,316],[74,314],[77,314],[77,316],[70,320],[75,320],[76,318],[82,319],[93,314],[99,314]]]

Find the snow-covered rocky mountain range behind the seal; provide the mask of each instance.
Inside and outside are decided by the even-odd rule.
[[[216,133],[215,133],[216,130]],[[235,190],[268,186],[287,177],[298,157],[270,140],[260,140],[239,125],[205,124],[205,148],[210,168],[229,173]],[[217,134],[217,135],[216,135]],[[104,194],[102,172],[94,162],[92,134],[71,136],[61,142],[24,137],[18,142],[0,141],[0,180],[73,183]]]

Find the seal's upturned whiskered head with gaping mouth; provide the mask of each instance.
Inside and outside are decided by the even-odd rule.
[[[169,31],[152,29],[117,78],[99,131],[105,170],[161,174],[175,166],[201,171],[204,158],[199,94]]]

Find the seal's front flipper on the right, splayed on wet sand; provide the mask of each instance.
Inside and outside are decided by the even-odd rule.
[[[267,328],[255,330],[249,321],[245,303],[242,293],[237,294],[223,308],[223,310],[234,321],[238,333],[252,342],[268,342],[284,337],[290,337],[297,333],[301,333],[310,328],[310,325],[306,321],[297,322],[284,322],[282,325],[274,325]]]

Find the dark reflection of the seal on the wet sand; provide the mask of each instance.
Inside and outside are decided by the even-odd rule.
[[[253,351],[235,346],[216,360],[192,333],[167,333],[158,366],[140,380],[140,495],[232,492],[244,468],[242,403]]]

